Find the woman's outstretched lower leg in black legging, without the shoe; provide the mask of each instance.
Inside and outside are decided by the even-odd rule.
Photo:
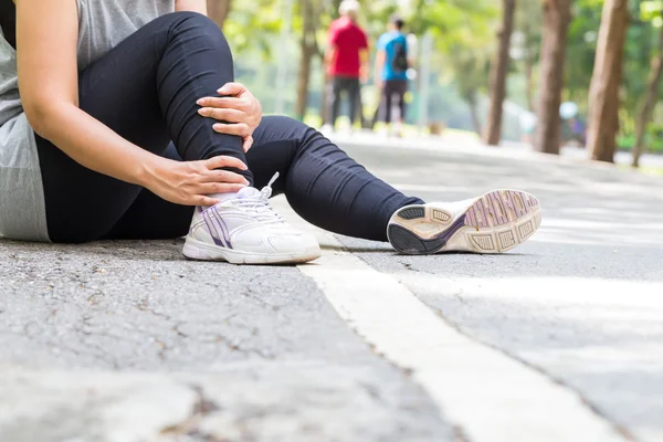
[[[256,187],[281,173],[274,193],[285,193],[308,222],[348,236],[387,241],[391,215],[409,198],[369,173],[317,130],[288,117],[265,117],[246,155]]]

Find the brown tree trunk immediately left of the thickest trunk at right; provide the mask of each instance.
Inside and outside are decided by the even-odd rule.
[[[540,93],[534,146],[538,151],[546,154],[559,155],[559,106],[570,21],[571,0],[544,0]]]

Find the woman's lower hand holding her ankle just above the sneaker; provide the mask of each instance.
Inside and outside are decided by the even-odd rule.
[[[232,157],[214,157],[202,161],[175,161],[156,157],[146,168],[141,186],[162,199],[181,206],[214,206],[214,193],[238,192],[249,185],[239,173],[217,170],[234,168],[246,170],[242,160]]]

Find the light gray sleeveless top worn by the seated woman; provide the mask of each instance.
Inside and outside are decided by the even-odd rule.
[[[175,0],[77,0],[78,71],[102,57]],[[0,236],[49,241],[34,131],[19,97],[17,54],[0,31]]]

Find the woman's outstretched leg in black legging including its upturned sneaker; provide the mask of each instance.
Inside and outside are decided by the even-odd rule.
[[[408,198],[316,130],[286,117],[266,117],[254,137],[248,159],[256,185],[277,169],[282,178],[274,190],[304,219],[336,233],[389,240],[408,254],[501,253],[540,225],[538,200],[522,191],[494,190],[456,202]]]

